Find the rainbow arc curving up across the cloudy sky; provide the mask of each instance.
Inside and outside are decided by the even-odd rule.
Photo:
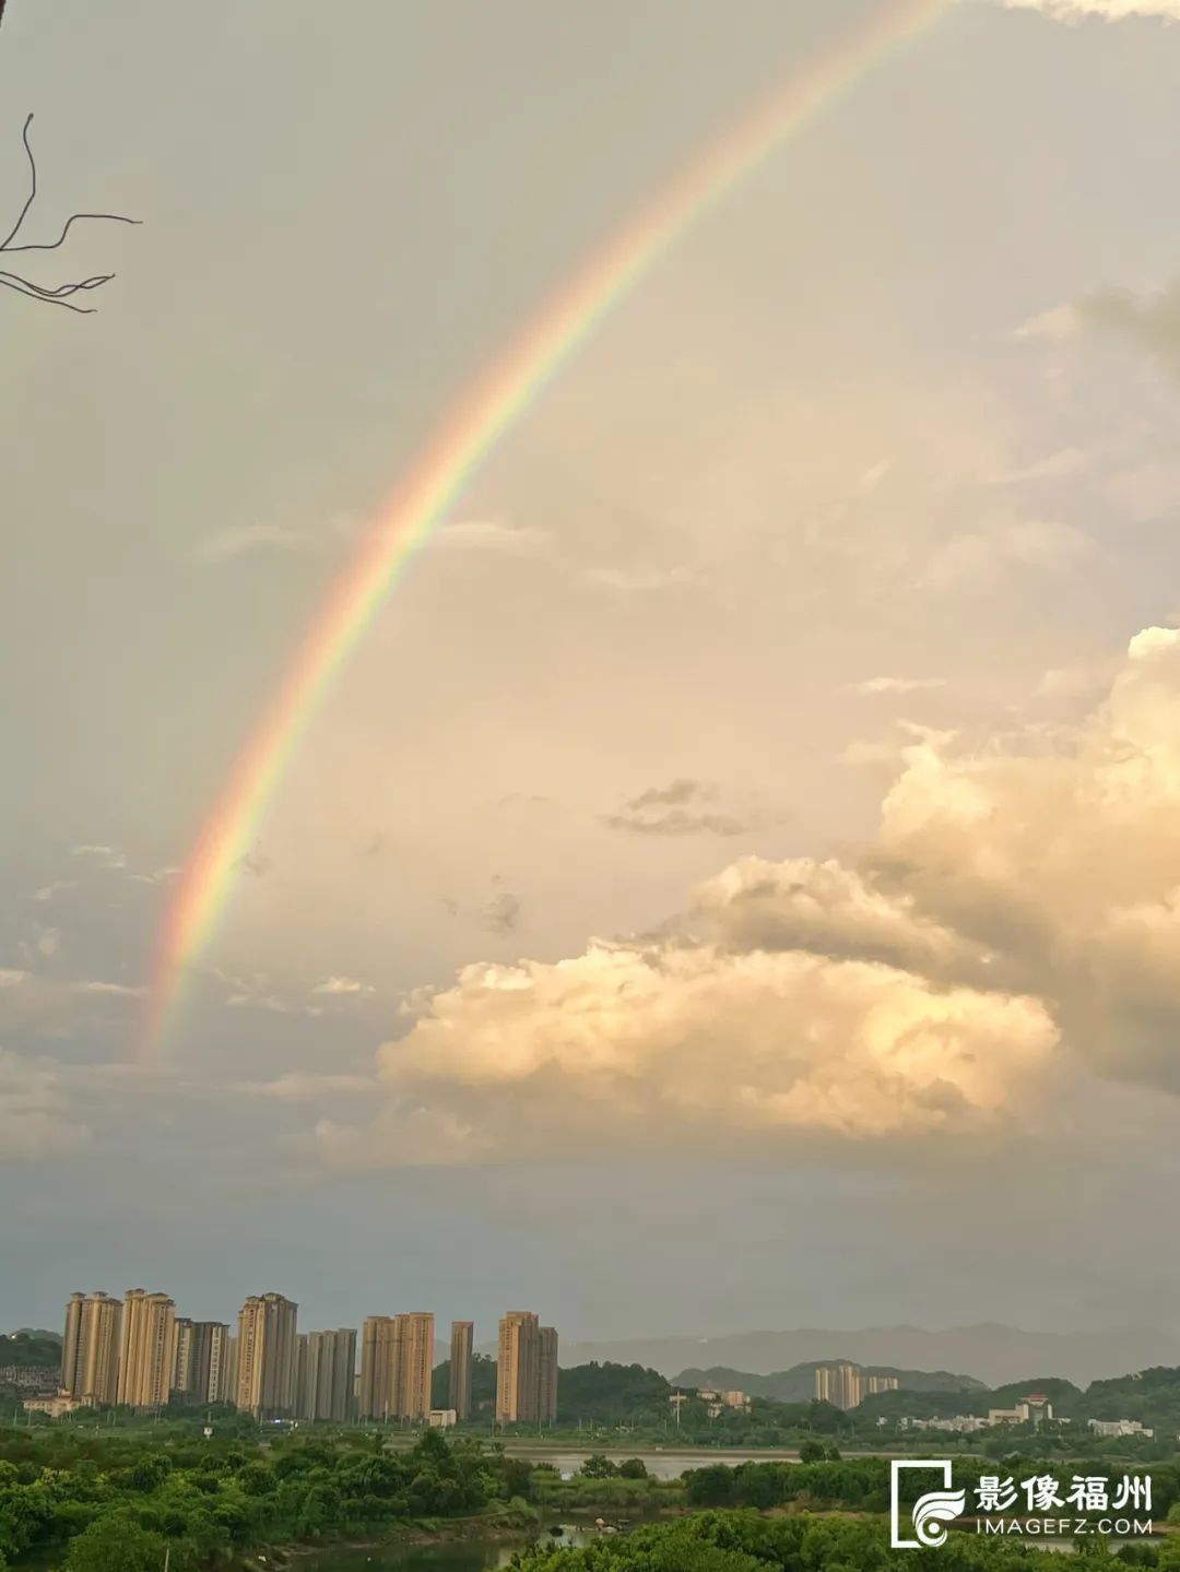
[[[234,869],[255,843],[262,814],[313,717],[415,552],[489,453],[679,236],[811,116],[932,24],[946,5],[947,0],[885,0],[852,33],[812,58],[619,228],[453,406],[333,585],[200,828],[156,937],[138,1041],[141,1063],[157,1052],[182,981],[226,907]]]

